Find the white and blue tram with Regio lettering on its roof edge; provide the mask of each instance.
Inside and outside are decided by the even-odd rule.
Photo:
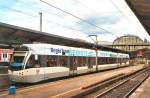
[[[96,70],[95,50],[52,44],[24,44],[14,49],[8,74],[11,81],[34,83]],[[129,55],[98,51],[98,70],[126,66]],[[105,64],[105,65],[104,65]]]

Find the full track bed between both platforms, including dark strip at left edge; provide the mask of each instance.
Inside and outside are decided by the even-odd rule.
[[[132,74],[122,75],[104,83],[83,88],[72,98],[127,98],[140,84],[149,77],[150,69],[143,69]]]

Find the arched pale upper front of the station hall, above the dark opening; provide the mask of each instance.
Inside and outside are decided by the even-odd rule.
[[[144,48],[150,49],[150,43],[135,35],[125,35],[115,39],[109,47],[132,52]]]

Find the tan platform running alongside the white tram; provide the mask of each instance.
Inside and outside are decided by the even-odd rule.
[[[39,84],[32,87],[25,87],[22,89],[17,89],[15,95],[9,95],[8,92],[4,92],[3,94],[0,94],[0,98],[63,98],[62,96],[68,92],[80,90],[82,87],[104,81],[115,75],[127,74],[136,70],[140,70],[144,66],[145,65],[129,66],[125,68]]]

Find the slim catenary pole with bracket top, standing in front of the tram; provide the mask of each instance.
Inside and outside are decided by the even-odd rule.
[[[92,38],[92,36],[95,37],[95,40]],[[98,64],[97,64],[97,57],[98,57],[98,51],[97,51],[97,45],[98,45],[98,41],[97,41],[97,35],[89,35],[89,37],[94,41],[95,44],[95,53],[96,53],[96,57],[95,57],[95,64],[96,64],[96,71],[98,71]]]

